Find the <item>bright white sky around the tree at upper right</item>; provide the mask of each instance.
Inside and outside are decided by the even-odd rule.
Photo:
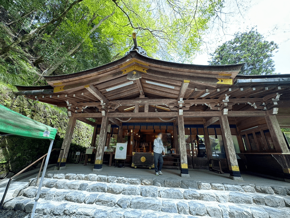
[[[245,12],[242,11],[243,16],[236,14],[228,18],[224,32],[229,35],[225,35],[220,30],[217,37],[216,31],[213,31],[211,36],[205,39],[206,42],[215,43],[208,43],[207,49],[206,46],[203,46],[204,52],[197,55],[192,61],[193,64],[208,65],[207,61],[210,58],[208,52],[213,52],[217,45],[231,40],[233,38],[231,35],[235,32],[245,32],[247,31],[247,27],[250,29],[253,26],[257,26],[258,32],[267,41],[274,41],[279,46],[278,51],[276,53],[274,51],[273,53],[276,73],[290,74],[288,67],[290,63],[290,1],[252,0],[249,3],[251,5],[248,10]],[[215,40],[213,40],[213,37],[215,37]],[[217,39],[219,41],[218,43],[216,43]]]

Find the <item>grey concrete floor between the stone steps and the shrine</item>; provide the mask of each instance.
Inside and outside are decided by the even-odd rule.
[[[48,170],[50,172],[59,172],[59,173],[76,173],[76,174],[101,174],[108,176],[130,176],[130,177],[154,177],[154,178],[162,178],[162,177],[176,177],[180,179],[191,179],[197,182],[216,182],[216,183],[229,183],[229,184],[260,184],[260,185],[274,185],[274,186],[283,186],[290,187],[290,183],[279,181],[271,178],[266,178],[263,176],[243,173],[242,177],[244,181],[233,181],[229,178],[229,174],[218,174],[209,170],[197,170],[197,169],[189,169],[190,178],[181,178],[180,170],[178,169],[162,169],[163,175],[155,176],[154,169],[146,169],[146,168],[118,168],[118,167],[108,167],[107,165],[103,165],[102,172],[93,172],[93,165],[82,165],[82,164],[66,164],[66,169],[62,170]]]

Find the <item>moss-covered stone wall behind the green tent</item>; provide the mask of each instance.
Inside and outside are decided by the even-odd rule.
[[[0,83],[0,104],[43,124],[57,128],[54,148],[61,144],[68,124],[66,109],[57,108],[46,103],[32,101],[23,96],[14,99],[15,87]],[[90,146],[93,127],[77,121],[70,150],[84,150]],[[47,153],[48,140],[24,139],[20,137],[0,137],[0,179],[12,176],[33,161]],[[52,154],[50,161],[56,162],[59,151]],[[33,167],[39,167],[36,164]]]

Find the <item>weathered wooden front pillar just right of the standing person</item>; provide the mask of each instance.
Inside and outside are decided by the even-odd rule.
[[[179,153],[180,153],[180,176],[189,177],[183,116],[179,115],[177,119],[178,119],[178,136],[179,136]]]

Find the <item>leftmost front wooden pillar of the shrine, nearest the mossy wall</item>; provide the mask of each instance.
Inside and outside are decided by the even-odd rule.
[[[59,162],[60,162],[59,169],[66,169],[66,158],[68,156],[68,150],[70,149],[70,142],[72,141],[73,131],[75,129],[76,121],[77,121],[76,117],[70,117],[68,120],[68,127],[66,128],[66,135],[64,136],[64,141],[62,142],[62,146],[61,146],[61,148],[64,149],[64,151],[60,152],[57,165],[56,165],[56,167],[58,167]],[[61,156],[62,156],[62,159],[61,159]]]

